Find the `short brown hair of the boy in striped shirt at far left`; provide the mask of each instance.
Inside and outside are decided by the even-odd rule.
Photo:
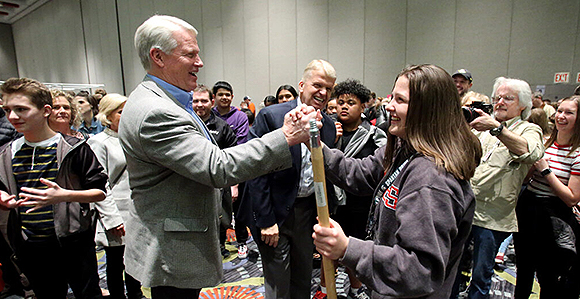
[[[52,96],[50,90],[44,84],[29,78],[10,78],[0,87],[2,97],[8,94],[21,93],[28,98],[38,108],[45,105],[52,107]]]

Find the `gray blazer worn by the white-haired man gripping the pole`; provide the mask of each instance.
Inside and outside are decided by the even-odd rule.
[[[127,272],[147,287],[217,285],[216,188],[290,167],[282,131],[220,150],[175,98],[146,77],[123,109],[119,138],[134,203],[126,222]]]

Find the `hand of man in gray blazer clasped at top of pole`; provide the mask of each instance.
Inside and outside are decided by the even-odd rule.
[[[316,119],[319,127],[322,127],[322,123],[320,123],[322,114],[320,111],[314,110],[311,106],[302,104],[302,106],[298,106],[294,110],[286,113],[282,132],[284,132],[286,142],[288,142],[289,146],[308,142],[310,138],[309,121],[312,118]]]

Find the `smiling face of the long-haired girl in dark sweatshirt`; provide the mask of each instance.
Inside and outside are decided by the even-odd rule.
[[[405,125],[410,99],[409,79],[405,76],[400,76],[397,82],[395,82],[395,88],[393,88],[392,94],[393,98],[387,105],[387,111],[391,113],[389,133],[405,139],[407,137]]]

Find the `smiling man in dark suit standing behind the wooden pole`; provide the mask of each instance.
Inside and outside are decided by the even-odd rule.
[[[264,136],[282,125],[282,116],[301,104],[322,110],[336,81],[334,67],[324,60],[311,61],[298,83],[300,96],[292,101],[268,106],[258,113],[250,129],[250,139]],[[324,114],[320,139],[334,147],[334,121]],[[309,298],[312,277],[312,227],[316,202],[310,151],[304,144],[293,146],[292,168],[272,172],[246,183],[238,214],[253,222],[252,235],[264,268],[266,298]],[[326,184],[329,201],[334,196]],[[249,212],[249,210],[253,210]]]

